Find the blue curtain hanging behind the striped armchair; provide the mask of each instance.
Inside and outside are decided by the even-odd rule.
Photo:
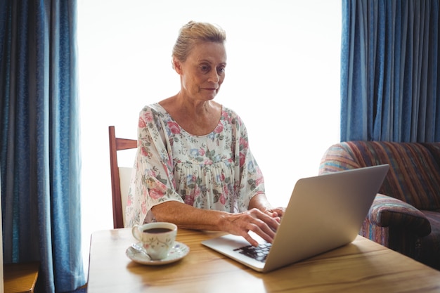
[[[439,0],[342,0],[341,141],[440,141]]]

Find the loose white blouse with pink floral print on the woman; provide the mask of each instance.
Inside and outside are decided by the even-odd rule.
[[[264,193],[264,178],[245,124],[233,110],[224,107],[214,131],[195,136],[158,103],[143,108],[126,226],[153,220],[151,207],[169,200],[235,213],[247,210],[259,193]]]

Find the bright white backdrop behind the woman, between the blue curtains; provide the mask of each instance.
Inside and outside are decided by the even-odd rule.
[[[90,234],[112,228],[108,126],[135,138],[143,105],[179,91],[170,55],[188,20],[226,30],[216,100],[247,125],[273,204],[287,204],[297,179],[316,175],[325,149],[339,141],[340,0],[78,3],[85,263]]]

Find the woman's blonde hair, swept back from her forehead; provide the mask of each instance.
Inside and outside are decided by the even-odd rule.
[[[174,44],[172,56],[185,62],[193,47],[204,41],[224,43],[226,32],[217,25],[208,22],[190,21],[179,30],[176,44]]]

